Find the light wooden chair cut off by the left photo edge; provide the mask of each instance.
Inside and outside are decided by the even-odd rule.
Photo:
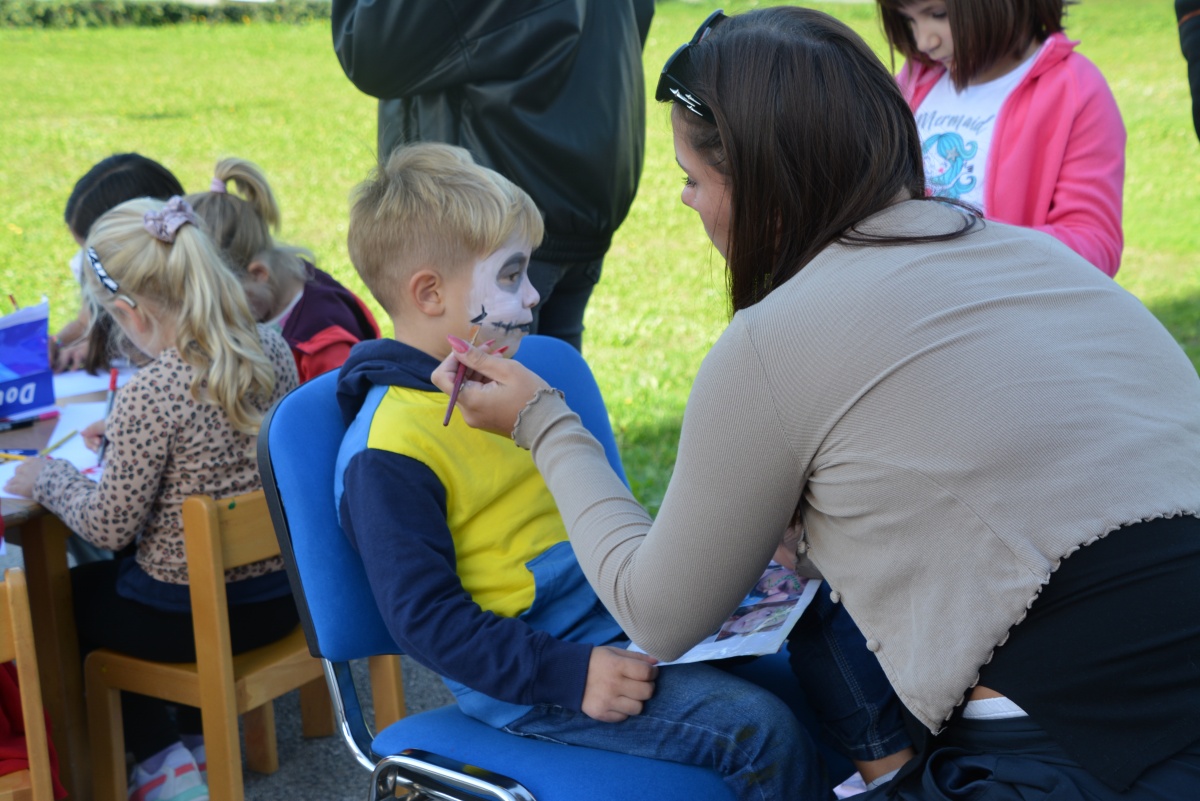
[[[46,712],[42,707],[42,683],[37,677],[25,573],[10,567],[4,579],[4,591],[0,592],[0,662],[17,661],[29,770],[0,776],[0,801],[54,801],[50,748],[46,737]]]

